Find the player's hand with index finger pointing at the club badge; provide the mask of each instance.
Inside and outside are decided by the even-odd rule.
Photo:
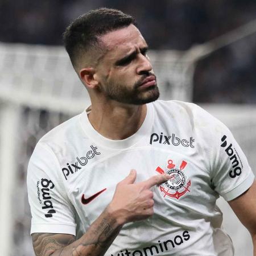
[[[131,170],[130,174],[117,184],[113,199],[107,208],[120,225],[152,216],[154,200],[150,188],[170,179],[170,175],[162,174],[134,183],[136,176],[136,171]]]

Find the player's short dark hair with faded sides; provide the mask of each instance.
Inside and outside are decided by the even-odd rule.
[[[66,28],[63,34],[64,46],[71,59],[73,67],[82,52],[88,51],[98,44],[98,36],[104,35],[118,28],[134,24],[135,19],[122,11],[100,8],[82,14]]]

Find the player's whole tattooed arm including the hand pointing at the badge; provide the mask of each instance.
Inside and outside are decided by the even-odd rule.
[[[69,234],[32,234],[36,256],[102,256],[127,222],[148,218],[154,213],[150,188],[170,179],[169,175],[152,176],[135,183],[136,172],[117,184],[112,201],[86,233],[77,241]]]

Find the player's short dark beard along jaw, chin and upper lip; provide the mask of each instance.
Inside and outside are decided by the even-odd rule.
[[[121,102],[123,104],[143,105],[159,98],[159,89],[157,85],[147,88],[139,88],[143,80],[148,76],[143,76],[131,88],[127,88],[121,84],[111,83],[105,85],[105,93],[108,98]]]

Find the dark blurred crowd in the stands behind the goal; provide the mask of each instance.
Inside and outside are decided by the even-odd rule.
[[[185,50],[256,19],[255,0],[1,0],[0,41],[62,44],[77,16],[98,7],[133,15],[152,49]],[[193,101],[256,103],[256,33],[200,60]]]

